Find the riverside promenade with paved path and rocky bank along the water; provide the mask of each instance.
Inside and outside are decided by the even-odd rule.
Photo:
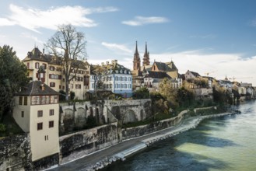
[[[209,117],[221,117],[231,113],[220,113],[206,116],[189,117],[182,120],[180,124],[174,127],[168,127],[161,131],[156,131],[151,134],[146,134],[142,137],[132,138],[126,141],[121,141],[117,145],[104,148],[100,151],[93,152],[92,154],[83,156],[80,159],[74,159],[72,162],[65,163],[61,166],[49,170],[69,171],[69,170],[97,170],[102,169],[104,166],[117,161],[118,159],[124,160],[128,155],[132,155],[135,152],[139,152],[143,148],[146,148],[150,144],[160,141],[165,138],[174,136],[183,131],[188,131],[191,128],[196,127],[202,120]]]

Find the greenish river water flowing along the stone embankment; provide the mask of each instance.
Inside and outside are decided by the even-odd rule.
[[[256,170],[256,102],[240,114],[203,120],[103,170]]]

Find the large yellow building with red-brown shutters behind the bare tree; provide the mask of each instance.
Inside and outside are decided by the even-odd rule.
[[[44,50],[41,52],[35,47],[27,53],[23,63],[28,69],[27,76],[32,81],[41,80],[57,92],[65,91],[66,80],[63,75],[61,58],[44,54]],[[87,61],[81,61],[81,63],[82,66],[78,68],[76,74],[75,71],[71,73],[71,75],[75,75],[75,78],[68,84],[68,91],[75,92],[75,98],[77,99],[85,99],[85,94],[89,91],[90,65]],[[43,71],[38,72],[40,69]]]

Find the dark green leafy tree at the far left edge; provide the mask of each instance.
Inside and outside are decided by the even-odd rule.
[[[0,47],[0,120],[3,113],[12,110],[12,99],[20,88],[26,86],[26,65],[16,56],[12,47]]]

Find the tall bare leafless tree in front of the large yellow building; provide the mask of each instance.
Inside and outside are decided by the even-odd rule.
[[[50,54],[61,59],[65,77],[65,99],[68,100],[68,84],[75,78],[78,69],[83,65],[82,60],[86,57],[85,35],[75,30],[72,25],[58,26],[58,31],[44,46]]]

